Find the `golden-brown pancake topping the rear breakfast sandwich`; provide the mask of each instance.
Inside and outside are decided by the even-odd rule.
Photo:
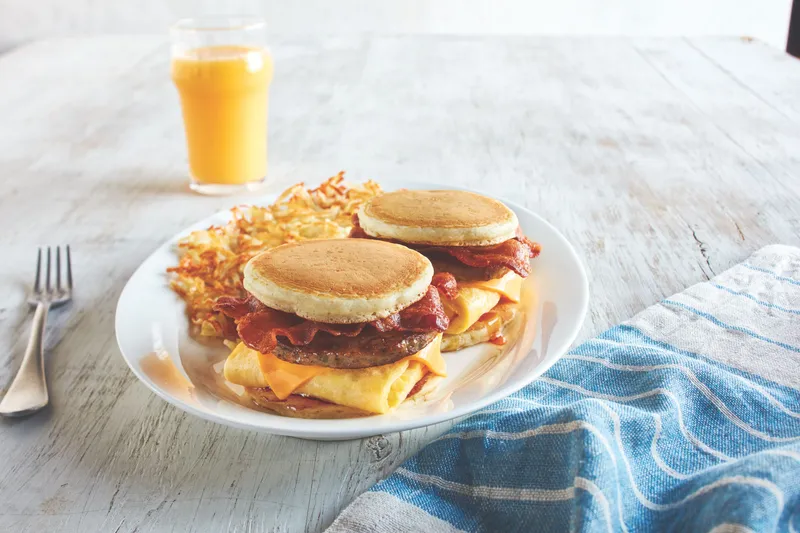
[[[401,190],[372,198],[358,213],[372,237],[437,246],[487,246],[516,235],[514,212],[468,191]]]

